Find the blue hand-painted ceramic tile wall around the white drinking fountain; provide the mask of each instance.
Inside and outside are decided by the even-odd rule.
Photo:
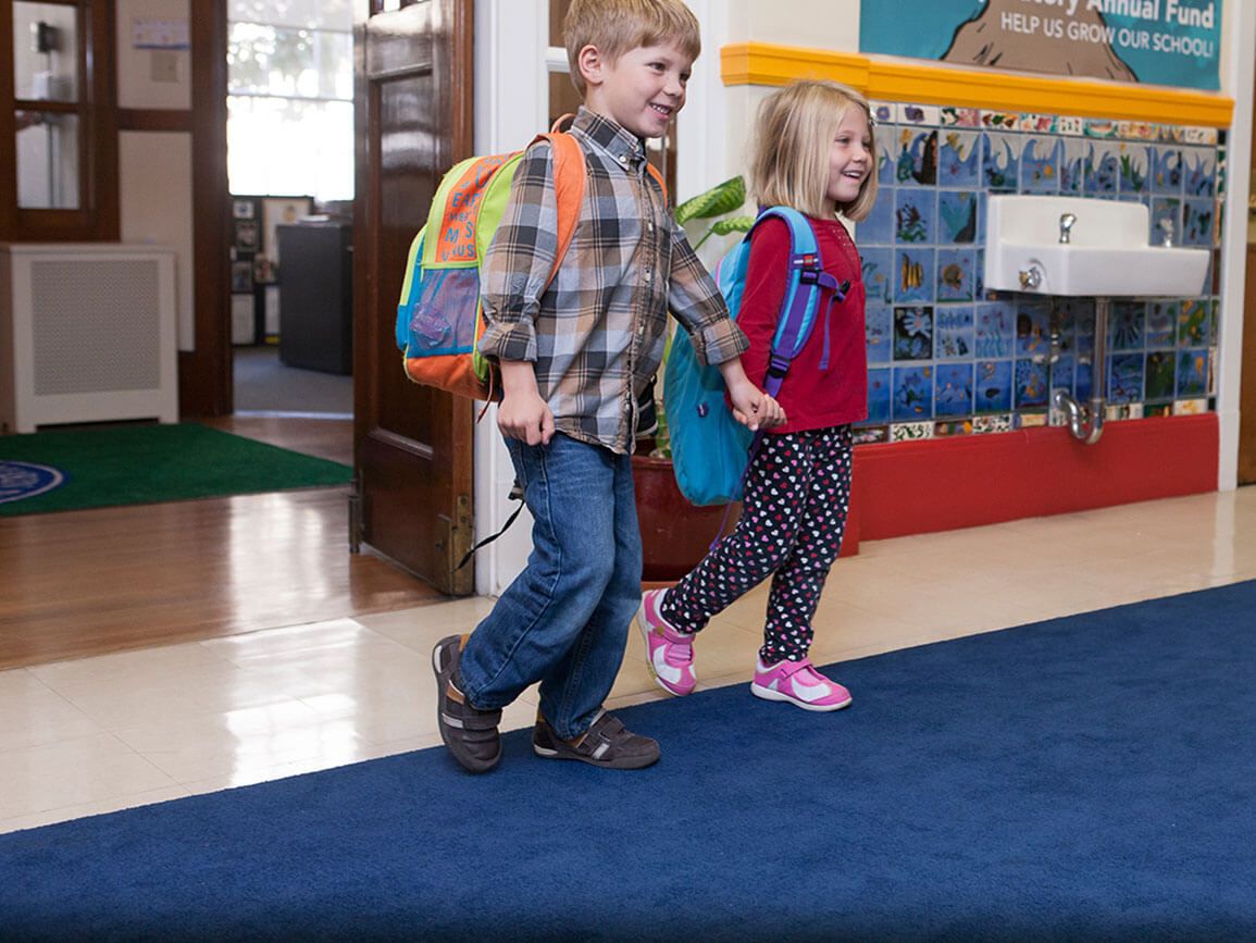
[[[874,103],[880,197],[855,232],[868,286],[863,442],[1064,424],[1090,397],[1094,301],[986,291],[990,193],[1133,200],[1149,237],[1213,250],[1206,294],[1114,304],[1108,419],[1213,408],[1225,132]]]

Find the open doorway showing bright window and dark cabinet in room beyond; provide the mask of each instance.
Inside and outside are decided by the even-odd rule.
[[[236,416],[353,417],[353,11],[227,21]]]

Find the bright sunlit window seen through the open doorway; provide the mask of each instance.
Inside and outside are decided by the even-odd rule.
[[[352,0],[230,0],[232,193],[353,197]]]

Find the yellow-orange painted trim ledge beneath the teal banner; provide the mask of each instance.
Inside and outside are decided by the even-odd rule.
[[[975,72],[767,43],[726,45],[720,50],[720,64],[726,85],[784,85],[796,78],[823,78],[857,88],[869,98],[916,104],[1212,128],[1228,127],[1235,108],[1232,98],[1207,92]]]

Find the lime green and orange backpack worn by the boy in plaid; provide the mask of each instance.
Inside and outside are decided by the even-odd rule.
[[[584,200],[585,162],[579,142],[559,131],[548,134],[554,148],[554,191],[558,201],[558,252],[563,262]],[[397,347],[406,375],[472,399],[500,397],[500,385],[476,345],[484,334],[480,266],[501,224],[510,185],[522,151],[468,157],[445,175],[436,190],[427,224],[409,246],[406,279],[397,303]],[[662,185],[658,171],[649,171]],[[666,187],[664,187],[666,192]]]

